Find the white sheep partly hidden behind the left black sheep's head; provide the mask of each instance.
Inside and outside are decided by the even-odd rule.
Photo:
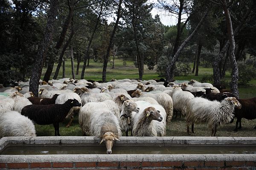
[[[78,94],[72,92],[72,93],[60,94],[57,97],[57,99],[55,100],[55,104],[64,104],[65,102],[67,102],[68,99],[76,99],[79,103],[81,103],[80,96]],[[74,115],[76,113],[79,113],[80,109],[81,109],[81,106],[80,107],[76,106],[76,107],[73,107],[70,109],[70,111],[66,117],[66,118],[69,118],[70,121],[68,122],[66,127],[70,127],[70,125],[73,121]]]

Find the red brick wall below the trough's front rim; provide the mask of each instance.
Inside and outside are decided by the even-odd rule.
[[[0,169],[186,169],[186,170],[254,170],[256,161],[97,161],[97,162],[30,162],[0,163]]]

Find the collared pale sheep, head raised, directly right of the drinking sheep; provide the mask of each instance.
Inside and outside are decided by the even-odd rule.
[[[122,104],[122,111],[120,113],[119,125],[122,131],[125,132],[125,135],[128,136],[128,131],[132,130],[133,127],[133,118],[131,117],[132,112],[139,113],[140,108],[138,108],[137,103],[132,100],[126,100]],[[132,136],[132,134],[131,134]]]

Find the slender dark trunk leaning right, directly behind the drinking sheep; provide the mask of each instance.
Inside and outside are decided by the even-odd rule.
[[[117,10],[117,13],[116,13],[116,23],[115,23],[115,26],[113,27],[113,31],[111,33],[111,37],[110,37],[110,40],[109,40],[107,52],[104,55],[103,69],[102,69],[102,81],[103,82],[106,82],[106,72],[107,72],[108,58],[109,58],[109,55],[110,55],[111,47],[113,46],[113,40],[114,40],[114,36],[116,34],[116,28],[118,26],[119,19],[120,19],[121,5],[122,5],[122,0],[119,0],[118,10]]]

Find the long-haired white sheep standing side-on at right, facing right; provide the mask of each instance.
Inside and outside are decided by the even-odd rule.
[[[212,129],[212,136],[215,136],[218,125],[225,125],[233,119],[235,108],[241,108],[235,97],[227,97],[221,102],[209,101],[201,97],[191,99],[186,106],[187,133],[190,134],[189,125],[192,125],[192,133],[195,133],[194,123],[207,123]]]

